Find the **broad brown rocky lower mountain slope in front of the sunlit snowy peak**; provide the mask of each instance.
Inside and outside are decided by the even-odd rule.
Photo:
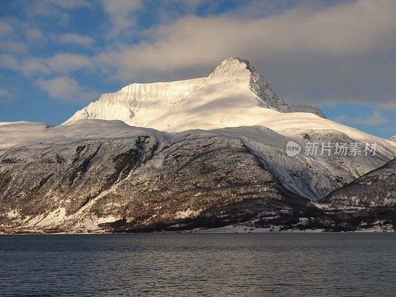
[[[348,140],[324,130],[292,139],[259,126],[177,134],[105,120],[0,127],[3,230],[98,230],[119,221],[142,228],[194,219],[221,226],[294,213],[387,159],[286,154],[290,140],[301,146]]]

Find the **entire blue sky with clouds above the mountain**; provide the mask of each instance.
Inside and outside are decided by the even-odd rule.
[[[0,2],[0,121],[60,124],[134,82],[247,58],[287,103],[396,134],[396,1]]]

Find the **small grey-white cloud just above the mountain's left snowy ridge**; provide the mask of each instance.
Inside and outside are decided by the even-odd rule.
[[[51,99],[89,102],[99,97],[98,93],[84,90],[75,79],[68,76],[58,76],[48,80],[38,79],[36,84]]]

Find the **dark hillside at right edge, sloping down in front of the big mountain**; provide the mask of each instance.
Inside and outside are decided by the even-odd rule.
[[[332,192],[325,202],[356,206],[396,206],[396,159]]]

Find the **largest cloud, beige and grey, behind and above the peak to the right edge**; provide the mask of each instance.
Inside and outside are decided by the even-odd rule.
[[[98,61],[129,83],[203,76],[241,56],[288,102],[392,101],[396,1],[310,4],[262,18],[186,16],[149,29],[138,45],[100,53]]]

